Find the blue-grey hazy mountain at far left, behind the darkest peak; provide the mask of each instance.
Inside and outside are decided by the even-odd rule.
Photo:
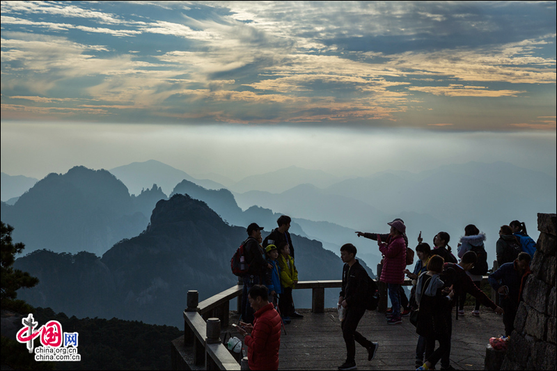
[[[138,235],[148,224],[136,212],[125,185],[105,170],[83,166],[51,173],[23,194],[15,205],[1,204],[4,223],[26,251],[88,251],[101,255],[120,239]]]

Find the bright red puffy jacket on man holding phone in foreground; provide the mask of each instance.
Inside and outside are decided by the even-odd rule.
[[[253,314],[253,331],[244,338],[248,346],[250,370],[278,370],[278,348],[281,346],[281,316],[273,303]]]

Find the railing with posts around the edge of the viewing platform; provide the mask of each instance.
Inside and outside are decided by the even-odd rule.
[[[378,275],[381,272],[380,265],[377,265]],[[494,262],[494,270],[496,262]],[[487,282],[487,276],[483,276],[482,282]],[[386,285],[378,283],[381,300],[377,310],[384,313],[387,308]],[[412,281],[406,279],[403,285],[411,285]],[[295,287],[297,290],[311,289],[311,311],[313,313],[324,313],[325,289],[340,288],[341,280],[330,281],[299,281]],[[242,290],[244,285],[240,281],[238,285],[230,287],[228,290],[198,302],[198,292],[189,291],[187,297],[188,308],[184,310],[184,346],[193,347],[193,363],[198,368],[205,370],[241,370],[237,362],[228,349],[221,343],[221,327],[228,327],[230,300],[237,299],[237,311],[240,313],[242,308]],[[492,290],[492,300],[499,302],[499,295]],[[187,368],[181,349],[175,349],[173,354],[173,369]]]

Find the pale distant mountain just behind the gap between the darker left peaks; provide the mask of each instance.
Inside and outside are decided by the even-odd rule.
[[[189,180],[207,189],[224,188],[222,184],[212,180],[196,179],[184,171],[155,160],[133,162],[132,164],[112,168],[110,172],[126,184],[131,194],[139,194],[141,189],[153,183],[159,184],[162,191],[168,193],[182,180]]]

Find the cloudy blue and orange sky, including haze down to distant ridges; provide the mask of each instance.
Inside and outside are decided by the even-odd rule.
[[[2,1],[1,168],[555,176],[556,54],[555,1]]]

